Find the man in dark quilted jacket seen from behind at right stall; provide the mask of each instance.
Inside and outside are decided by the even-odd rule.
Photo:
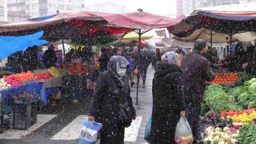
[[[211,72],[209,61],[202,54],[206,48],[206,41],[196,40],[193,52],[185,55],[181,61],[183,70],[181,81],[186,103],[186,117],[191,127],[193,136],[204,98],[205,81],[212,81],[215,74]]]

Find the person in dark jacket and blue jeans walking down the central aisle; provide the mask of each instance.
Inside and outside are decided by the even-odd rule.
[[[141,54],[141,63],[140,63],[140,76],[142,78],[143,84],[146,82],[147,78],[147,71],[148,71],[148,66],[151,62],[151,58],[149,53],[147,52],[147,48],[143,48],[143,52]]]

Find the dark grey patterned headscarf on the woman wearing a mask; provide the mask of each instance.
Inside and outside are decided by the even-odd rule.
[[[130,65],[130,63],[122,56],[112,56],[108,62],[108,70],[117,78],[117,81],[124,86],[124,82],[122,81],[124,76],[119,76],[117,74],[119,68],[124,68]]]

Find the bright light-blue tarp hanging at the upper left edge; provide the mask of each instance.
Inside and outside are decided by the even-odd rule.
[[[45,40],[39,40],[44,34],[44,31],[37,32],[26,36],[0,36],[0,60],[6,58],[17,51],[25,51],[29,46],[48,43]]]

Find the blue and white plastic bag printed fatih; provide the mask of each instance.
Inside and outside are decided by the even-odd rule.
[[[101,127],[102,124],[88,121],[88,118],[84,117],[83,127],[79,134],[79,144],[96,144]]]

